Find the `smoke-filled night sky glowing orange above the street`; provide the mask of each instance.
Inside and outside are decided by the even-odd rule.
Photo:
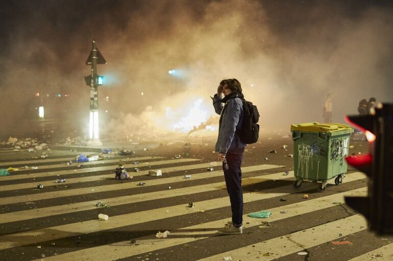
[[[93,39],[106,132],[171,131],[198,102],[215,121],[209,96],[230,77],[264,129],[322,121],[328,93],[343,122],[362,98],[393,102],[393,2],[375,2],[2,1],[0,135],[34,117],[37,92],[52,118],[85,127]]]

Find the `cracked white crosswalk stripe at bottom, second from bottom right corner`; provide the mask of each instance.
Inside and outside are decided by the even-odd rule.
[[[326,224],[314,226],[303,231],[286,234],[285,236],[267,240],[251,246],[234,249],[232,251],[219,253],[200,261],[223,260],[224,257],[231,256],[233,260],[257,260],[263,256],[263,260],[273,260],[285,255],[304,251],[340,237],[359,232],[366,229],[367,221],[361,215],[353,215]],[[338,236],[341,234],[341,236]],[[269,253],[263,255],[263,253]]]

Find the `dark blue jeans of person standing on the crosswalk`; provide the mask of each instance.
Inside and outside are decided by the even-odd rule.
[[[243,190],[241,189],[241,162],[244,148],[229,150],[225,155],[223,170],[229,199],[231,201],[232,222],[242,225],[243,222]]]

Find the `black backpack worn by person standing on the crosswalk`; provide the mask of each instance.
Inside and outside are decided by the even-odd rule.
[[[259,137],[259,112],[251,101],[243,100],[243,125],[237,131],[241,142],[245,144],[252,144],[258,141]]]

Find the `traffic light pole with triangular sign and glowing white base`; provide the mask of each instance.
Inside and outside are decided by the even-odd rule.
[[[90,86],[90,122],[89,122],[89,136],[90,140],[87,142],[88,146],[102,146],[99,136],[99,107],[98,107],[98,75],[97,64],[106,64],[104,57],[93,41],[90,56],[87,58],[86,64],[91,64],[91,74],[85,76],[86,85]]]

